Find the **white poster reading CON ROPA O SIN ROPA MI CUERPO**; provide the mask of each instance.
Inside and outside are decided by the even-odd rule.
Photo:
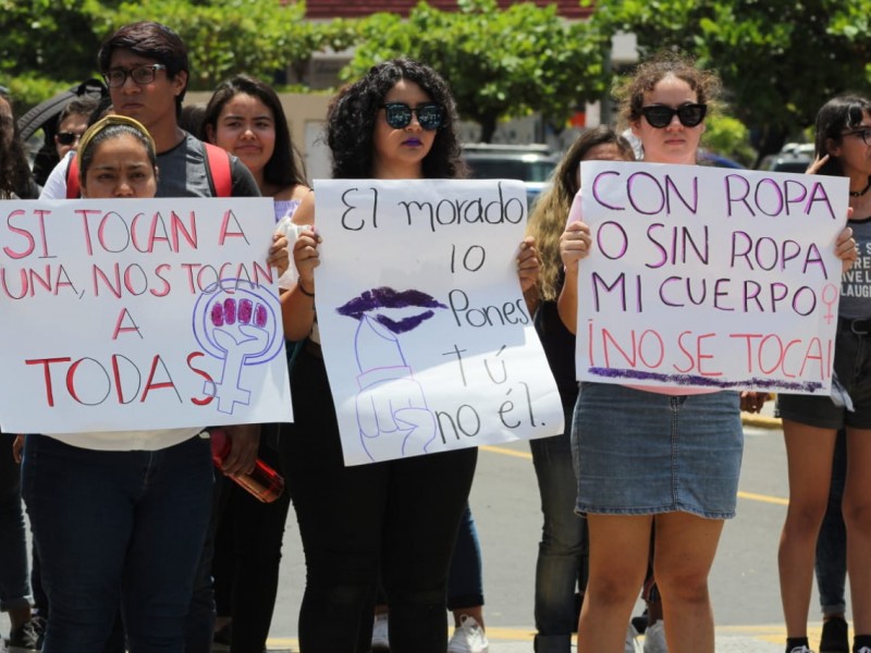
[[[584,381],[827,394],[847,180],[585,162]]]

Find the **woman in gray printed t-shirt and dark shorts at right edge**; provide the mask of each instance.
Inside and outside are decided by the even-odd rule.
[[[847,572],[852,597],[855,652],[871,651],[871,300],[866,271],[871,267],[871,101],[838,97],[817,114],[817,161],[809,172],[849,178],[850,225],[861,264],[844,275],[835,340],[835,390],[842,401],[824,396],[778,394],[789,471],[789,507],[781,535],[781,596],[787,650],[808,651],[807,619],[813,562],[832,475],[835,438],[846,429],[847,475],[842,512],[847,533]],[[834,394],[834,393],[833,393]],[[844,396],[844,395],[848,396]],[[845,402],[850,399],[851,402]],[[851,403],[850,408],[845,403]],[[838,621],[841,628],[837,628]],[[834,627],[834,628],[833,628]],[[843,618],[826,619],[823,640],[832,634],[847,645]],[[792,649],[790,649],[792,646]],[[802,648],[803,646],[803,648]],[[822,649],[822,646],[821,646]],[[831,650],[835,650],[834,648]]]

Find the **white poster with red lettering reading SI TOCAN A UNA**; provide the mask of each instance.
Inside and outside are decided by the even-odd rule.
[[[0,202],[0,424],[289,421],[272,201]]]

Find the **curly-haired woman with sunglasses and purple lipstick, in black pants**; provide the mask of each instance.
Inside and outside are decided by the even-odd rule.
[[[330,107],[333,176],[462,177],[456,122],[447,84],[431,67],[405,59],[376,65]],[[535,249],[526,247],[520,258],[529,286]],[[314,306],[314,286],[304,289]],[[298,333],[285,335],[299,340]],[[318,332],[306,335],[291,372],[295,421],[281,440],[306,555],[300,649],[369,650],[380,570],[390,650],[444,653],[447,568],[477,449],[345,467]]]

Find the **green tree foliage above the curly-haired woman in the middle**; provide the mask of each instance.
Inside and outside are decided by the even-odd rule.
[[[562,126],[581,101],[601,96],[604,39],[586,23],[566,23],[554,5],[457,4],[458,11],[444,12],[420,2],[407,21],[395,14],[366,19],[344,78],[393,57],[424,61],[451,84],[461,115],[481,125],[483,141],[500,118],[541,112]]]

